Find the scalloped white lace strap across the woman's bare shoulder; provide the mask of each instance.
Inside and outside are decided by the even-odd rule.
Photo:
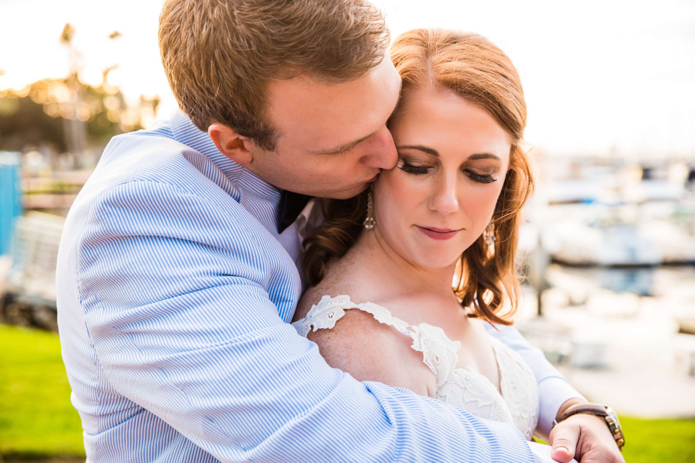
[[[306,337],[311,331],[322,328],[330,329],[336,326],[336,321],[345,315],[345,310],[358,309],[368,312],[385,325],[393,326],[402,334],[413,340],[411,348],[423,353],[423,362],[430,368],[436,376],[437,387],[441,386],[446,378],[454,371],[459,361],[457,351],[461,347],[460,342],[451,341],[441,328],[420,323],[418,326],[411,326],[408,323],[393,317],[389,309],[375,303],[356,304],[350,301],[350,296],[323,296],[318,304],[312,305],[309,313],[301,320],[292,323],[300,335]]]

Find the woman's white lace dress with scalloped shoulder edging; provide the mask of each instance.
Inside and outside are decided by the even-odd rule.
[[[359,309],[373,315],[377,321],[393,326],[413,339],[411,345],[423,353],[423,362],[436,376],[436,398],[460,407],[481,418],[512,423],[530,440],[538,423],[538,385],[533,372],[521,356],[494,337],[490,337],[500,374],[500,389],[471,367],[456,367],[461,347],[444,330],[420,323],[409,325],[391,315],[388,309],[374,303],[355,304],[350,296],[323,296],[313,305],[304,319],[292,325],[302,336],[313,331],[333,328],[346,309]]]

